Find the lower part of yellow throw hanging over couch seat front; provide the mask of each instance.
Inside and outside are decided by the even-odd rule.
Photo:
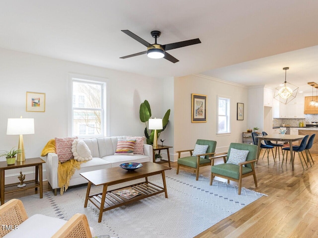
[[[61,195],[63,195],[63,192],[65,192],[69,188],[71,177],[74,175],[75,170],[79,169],[80,164],[83,162],[86,161],[80,162],[75,159],[70,159],[64,163],[59,162],[58,185],[61,188]]]

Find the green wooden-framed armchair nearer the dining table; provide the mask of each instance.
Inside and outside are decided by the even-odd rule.
[[[212,157],[211,159],[214,160],[216,158],[223,157],[224,159],[227,157],[227,162],[230,158],[231,148],[238,149],[238,150],[248,150],[248,154],[246,157],[245,162],[241,162],[238,165],[235,164],[219,164],[211,166],[211,178],[210,178],[210,185],[212,185],[213,178],[215,176],[221,177],[224,179],[228,179],[228,183],[230,180],[239,182],[239,195],[242,186],[242,178],[247,176],[253,176],[255,187],[257,187],[257,180],[254,165],[256,162],[256,154],[257,154],[257,146],[256,145],[249,145],[249,144],[240,144],[240,143],[231,143],[229,151],[220,156]],[[244,166],[243,166],[244,165]]]

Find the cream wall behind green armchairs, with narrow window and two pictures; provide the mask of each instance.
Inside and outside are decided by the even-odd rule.
[[[191,123],[191,94],[207,95],[207,122]],[[217,96],[231,99],[231,133],[217,135]],[[237,103],[244,103],[244,120],[237,120]],[[217,141],[217,152],[227,151],[231,142],[242,142],[247,129],[247,89],[201,75],[174,79],[174,151],[193,149],[197,139]],[[177,155],[174,155],[176,160]]]

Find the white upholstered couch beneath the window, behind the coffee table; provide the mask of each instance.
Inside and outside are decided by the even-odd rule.
[[[79,175],[82,172],[101,170],[106,168],[117,167],[123,163],[129,162],[149,162],[153,161],[153,147],[152,145],[144,144],[145,155],[114,155],[117,147],[118,139],[126,139],[126,136],[109,136],[81,139],[88,146],[92,160],[82,163],[80,169],[76,170],[75,174],[70,180],[70,186],[87,183],[87,180]],[[54,190],[54,195],[57,194],[58,186],[58,166],[59,160],[56,153],[48,153],[46,156],[46,177],[49,184]]]

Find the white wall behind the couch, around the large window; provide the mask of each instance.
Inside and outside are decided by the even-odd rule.
[[[0,49],[0,65],[0,150],[17,147],[18,136],[6,135],[8,118],[34,118],[35,134],[23,136],[26,158],[39,157],[48,140],[68,136],[69,73],[107,81],[110,99],[107,135],[144,135],[139,106],[145,99],[154,117],[163,117],[167,110],[159,79],[4,49]],[[27,91],[46,93],[45,113],[26,112]],[[3,157],[0,160],[5,161]],[[22,172],[28,175],[33,170],[25,168]],[[5,176],[18,182],[19,172],[6,171]]]

